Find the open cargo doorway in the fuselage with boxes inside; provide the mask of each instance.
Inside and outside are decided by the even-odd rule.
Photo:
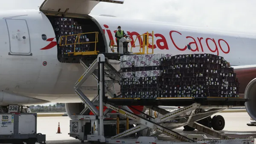
[[[105,52],[102,43],[103,38],[99,28],[90,17],[59,17],[47,15],[50,20],[58,47],[58,60],[67,63],[79,63],[74,55],[81,53],[96,55],[97,52]],[[100,41],[100,43],[98,43]],[[67,59],[73,57],[73,59]]]

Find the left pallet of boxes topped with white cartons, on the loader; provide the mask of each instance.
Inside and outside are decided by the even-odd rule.
[[[121,57],[122,98],[157,98],[161,88],[161,59],[168,54],[125,55]]]

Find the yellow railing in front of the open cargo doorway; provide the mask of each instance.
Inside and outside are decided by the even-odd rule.
[[[95,33],[95,41],[80,43],[81,35],[87,35],[87,34],[93,34],[93,33]],[[75,34],[75,35],[64,35],[64,36],[61,36],[60,46],[74,45],[74,52],[68,52],[69,55],[70,54],[73,54],[73,55],[98,55],[99,51],[96,51],[96,43],[99,42],[98,35],[99,35],[99,32],[86,32],[86,33],[80,33],[80,34]],[[67,44],[67,37],[70,37],[70,36],[76,36],[75,43]],[[65,37],[65,44],[61,44],[63,37]],[[86,44],[86,43],[95,43],[94,51],[86,50],[85,52],[76,52],[76,44]]]

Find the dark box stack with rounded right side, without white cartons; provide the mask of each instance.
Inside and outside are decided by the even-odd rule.
[[[175,55],[162,60],[160,97],[239,97],[239,82],[223,57]]]

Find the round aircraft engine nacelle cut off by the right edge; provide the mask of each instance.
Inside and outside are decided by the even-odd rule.
[[[256,120],[256,78],[246,86],[244,98],[249,98],[249,101],[244,104],[247,113],[253,120]]]

